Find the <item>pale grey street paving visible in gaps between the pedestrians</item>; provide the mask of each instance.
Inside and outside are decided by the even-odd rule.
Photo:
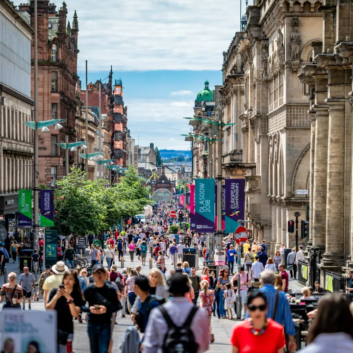
[[[86,250],[86,256],[88,257],[88,249]],[[141,265],[141,260],[138,260],[137,256],[134,258],[134,262],[130,261],[130,256],[128,253],[125,253],[125,267],[135,267],[137,265]],[[121,271],[121,263],[116,261],[116,265],[118,266],[118,271]],[[143,275],[148,275],[150,271],[149,267],[149,257],[147,258],[147,266],[142,266],[141,273]],[[106,262],[104,260],[103,265],[106,266]],[[153,268],[155,268],[155,264],[153,263]],[[199,271],[198,274],[201,273],[202,270],[202,259],[199,259]],[[20,269],[17,263],[12,263],[12,259],[10,262],[6,264],[7,267],[7,274],[10,272],[15,272],[17,277],[20,276]],[[171,270],[174,266],[172,265],[172,261],[170,258],[166,257],[166,267],[167,267],[167,277],[169,274],[169,270]],[[38,276],[39,279],[39,276]],[[0,285],[3,284],[3,276],[0,277]],[[297,281],[290,281],[289,288],[292,290],[298,290],[302,286],[298,284]],[[2,306],[2,304],[0,304]],[[26,310],[27,310],[26,304]],[[32,310],[45,310],[44,308],[44,301],[40,298],[39,302],[32,302],[31,304]],[[1,309],[0,309],[1,310]],[[85,315],[85,314],[84,314]],[[234,312],[233,312],[233,316]],[[215,335],[215,342],[210,344],[209,353],[219,353],[219,352],[230,352],[230,344],[229,344],[229,336],[231,333],[231,329],[234,325],[237,325],[239,321],[237,320],[227,320],[221,319],[219,320],[217,317],[212,317],[212,330]],[[132,324],[129,315],[126,315],[126,318],[122,318],[120,313],[117,316],[117,325],[114,327],[113,332],[113,353],[120,352],[119,345],[124,336],[126,328]],[[89,352],[89,341],[87,336],[87,324],[83,321],[83,324],[79,324],[77,320],[74,321],[74,341],[73,341],[73,351],[74,353],[87,353]]]

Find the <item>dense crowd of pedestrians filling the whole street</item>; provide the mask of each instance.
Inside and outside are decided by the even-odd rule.
[[[216,316],[233,320],[237,293],[244,320],[232,329],[232,353],[284,353],[300,349],[286,293],[290,281],[287,271],[296,278],[303,248],[289,253],[285,268],[283,246],[274,257],[269,256],[265,241],[246,242],[241,252],[229,236],[223,241],[227,265],[218,276],[207,266],[199,274],[183,261],[182,254],[183,249],[193,246],[207,258],[205,236],[190,229],[170,232],[170,226],[176,225],[176,220],[169,217],[173,207],[170,203],[161,204],[146,217],[145,223],[130,220],[122,231],[116,228],[109,232],[102,245],[89,237],[90,269],[72,268],[76,253],[71,242],[65,250],[63,247],[62,260],[43,269],[37,295],[43,296],[46,309],[57,312],[57,352],[71,352],[74,320],[87,323],[91,353],[112,352],[115,324],[120,316],[127,315],[131,326],[121,340],[123,353],[206,352],[210,344],[217,342],[212,320]],[[12,244],[11,250],[18,249],[18,244]],[[153,268],[144,276],[141,271],[147,266],[147,254],[153,258]],[[118,271],[115,262],[127,256],[134,262],[133,267]],[[237,256],[242,258],[239,273],[234,271],[238,269],[234,268]],[[177,261],[176,269],[173,266],[168,271],[166,258],[172,263]],[[351,278],[353,287],[353,272]],[[4,308],[25,310],[28,301],[31,309],[36,283],[30,269],[24,268],[18,284],[16,281],[16,274],[9,273],[8,283],[0,290],[0,302]],[[254,282],[259,282],[258,290],[253,290]],[[303,288],[301,300],[313,299],[312,291],[322,293],[323,288],[319,283],[315,283],[314,289]],[[353,317],[341,296],[325,296],[310,315],[309,345],[304,353],[352,350]]]

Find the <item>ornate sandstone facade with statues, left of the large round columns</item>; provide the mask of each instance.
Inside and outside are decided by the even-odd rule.
[[[281,243],[295,245],[287,221],[296,211],[305,220],[309,204],[310,92],[298,74],[322,41],[321,5],[255,0],[245,30],[224,53],[223,114],[237,123],[225,129],[224,143],[246,171],[249,231],[272,255]]]

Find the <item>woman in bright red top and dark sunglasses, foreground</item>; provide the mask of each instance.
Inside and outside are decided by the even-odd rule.
[[[233,327],[232,353],[284,353],[283,326],[266,318],[266,297],[259,291],[248,299],[250,318]]]

